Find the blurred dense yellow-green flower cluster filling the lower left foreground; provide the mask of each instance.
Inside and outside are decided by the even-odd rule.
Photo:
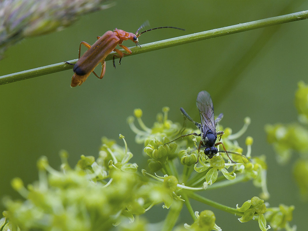
[[[120,135],[124,140],[124,137]],[[149,183],[136,174],[137,164],[129,163],[132,153],[114,140],[103,138],[99,157],[81,156],[75,168],[67,164],[67,153],[60,153],[61,171],[46,157],[38,161],[39,181],[23,185],[20,178],[12,187],[25,201],[4,200],[7,211],[0,220],[3,230],[109,230],[122,221],[134,221],[153,205],[173,196],[163,183]],[[174,190],[174,187],[172,187]],[[9,220],[9,221],[8,221]]]

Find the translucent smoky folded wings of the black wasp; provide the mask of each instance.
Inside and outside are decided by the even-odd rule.
[[[207,91],[200,91],[197,96],[197,107],[199,109],[203,134],[206,134],[209,129],[216,133],[215,119],[214,119],[214,108],[211,95]]]

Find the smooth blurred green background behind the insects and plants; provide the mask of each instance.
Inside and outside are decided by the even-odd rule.
[[[115,6],[86,15],[69,28],[10,47],[0,61],[0,75],[75,59],[80,41],[93,44],[96,36],[115,27],[135,32],[146,20],[150,28],[176,26],[186,31],[155,30],[140,36],[141,46],[307,8],[307,1],[116,1]],[[19,198],[10,180],[15,176],[25,184],[36,180],[39,156],[46,155],[58,169],[58,153],[65,149],[74,166],[82,154],[98,155],[102,136],[118,140],[119,133],[123,134],[133,161],[142,165],[143,147],[135,144],[126,123],[133,109],[143,110],[148,126],[163,106],[171,108],[173,121],[182,123],[180,107],[198,120],[197,93],[206,90],[212,95],[216,115],[224,113],[224,127],[236,132],[244,117],[251,117],[248,131],[238,142],[245,149],[245,137],[253,136],[252,155],[267,158],[270,206],[295,205],[291,225],[305,230],[307,202],[301,201],[292,177],[295,157],[285,166],[277,164],[264,125],[296,120],[297,82],[308,82],[307,28],[308,20],[302,20],[124,57],[116,69],[108,61],[102,80],[91,74],[75,88],[70,87],[72,70],[0,86],[0,197]],[[134,46],[131,41],[123,45]],[[99,67],[96,70],[100,73]],[[121,140],[118,143],[122,145]],[[247,182],[204,195],[235,207],[259,193]],[[257,222],[240,224],[237,217],[200,203],[193,203],[193,209],[213,210],[223,230],[259,230]],[[187,210],[183,212],[181,221],[192,223]],[[164,219],[167,210],[158,205],[148,214],[156,222]]]

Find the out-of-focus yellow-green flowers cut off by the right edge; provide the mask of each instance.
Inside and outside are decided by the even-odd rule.
[[[292,153],[299,154],[293,174],[304,200],[308,199],[308,85],[298,83],[294,104],[298,111],[298,122],[290,124],[268,124],[265,126],[267,140],[273,144],[277,160],[281,164],[290,161]]]

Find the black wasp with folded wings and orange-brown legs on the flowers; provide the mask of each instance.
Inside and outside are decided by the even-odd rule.
[[[182,135],[182,136],[176,138],[175,140],[177,140],[181,137],[190,136],[190,135],[201,136],[202,139],[199,143],[198,151],[200,151],[201,147],[205,148],[204,149],[205,156],[208,156],[209,159],[211,159],[218,152],[218,149],[215,146],[221,144],[222,147],[224,148],[224,151],[226,152],[227,156],[229,157],[229,154],[228,154],[228,152],[225,148],[225,145],[222,142],[216,143],[217,135],[219,135],[221,137],[224,134],[224,132],[222,132],[222,131],[216,132],[216,124],[222,119],[223,114],[222,113],[219,114],[217,119],[216,120],[214,119],[213,101],[212,101],[212,98],[211,98],[211,95],[209,94],[209,92],[200,91],[198,93],[198,96],[197,96],[196,104],[197,104],[197,107],[199,109],[201,124],[194,121],[182,107],[180,108],[180,110],[181,110],[182,114],[188,120],[193,122],[193,124],[195,124],[197,126],[197,128],[199,128],[201,133],[198,134],[198,133],[194,132],[194,133]],[[171,143],[175,140],[172,140],[168,143]],[[229,159],[231,160],[230,157],[229,157]],[[235,163],[233,160],[231,160],[231,161],[233,163]]]

